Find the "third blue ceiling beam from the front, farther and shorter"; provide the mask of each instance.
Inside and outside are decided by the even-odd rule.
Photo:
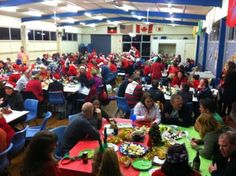
[[[87,20],[87,21],[76,21],[75,23],[59,23],[58,26],[78,26],[82,23],[88,24],[98,24],[98,23],[106,23],[107,20],[109,21],[130,21],[130,22],[140,22],[143,23],[145,21],[138,20],[136,18],[131,17],[116,17],[116,18],[107,18],[103,20]],[[150,23],[161,23],[161,24],[178,24],[178,25],[186,25],[186,26],[197,26],[196,22],[186,22],[186,21],[170,21],[170,20],[156,20],[156,19],[149,19]]]

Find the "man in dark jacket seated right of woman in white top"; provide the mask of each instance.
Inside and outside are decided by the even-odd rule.
[[[190,110],[183,103],[183,99],[179,94],[173,94],[170,102],[166,103],[161,122],[183,127],[192,125]]]

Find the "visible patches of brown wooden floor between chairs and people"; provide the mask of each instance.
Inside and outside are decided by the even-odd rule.
[[[114,117],[115,112],[116,112],[116,101],[111,101],[109,103],[109,105],[104,107],[104,110],[111,116]],[[37,119],[38,124],[41,124],[42,119]],[[48,123],[47,123],[47,128],[54,128],[60,125],[67,125],[68,124],[68,120],[67,118],[63,119],[63,120],[58,120],[55,116],[50,118]],[[30,125],[35,125],[34,122],[32,122]],[[8,168],[8,171],[10,172],[11,176],[20,176],[19,171],[20,171],[20,167],[22,165],[23,162],[23,155],[24,155],[24,151],[22,151],[22,153],[20,153],[18,156],[16,156],[15,158],[13,158],[11,160],[11,164]],[[1,175],[0,175],[1,176]]]

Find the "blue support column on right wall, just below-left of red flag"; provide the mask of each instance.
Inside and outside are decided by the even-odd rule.
[[[221,19],[220,21],[220,36],[219,36],[219,49],[216,65],[216,85],[219,83],[219,78],[222,73],[223,60],[225,53],[225,34],[226,34],[226,18]]]

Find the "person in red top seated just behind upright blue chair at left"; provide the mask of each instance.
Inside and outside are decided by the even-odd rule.
[[[25,91],[32,92],[39,102],[43,101],[43,89],[41,85],[41,76],[35,75],[34,79],[30,80],[25,87]]]

